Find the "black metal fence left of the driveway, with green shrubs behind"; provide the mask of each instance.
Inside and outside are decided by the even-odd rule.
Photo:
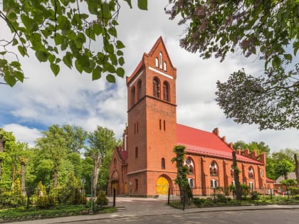
[[[46,209],[62,205],[90,205],[91,211],[115,207],[115,188],[97,189],[93,197],[86,195],[83,188],[49,188],[46,191],[27,189],[23,193],[0,188],[0,209],[20,207]]]

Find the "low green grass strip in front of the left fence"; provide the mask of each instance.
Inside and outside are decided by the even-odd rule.
[[[113,213],[117,208],[104,208],[95,213]],[[0,210],[0,222],[7,221],[21,221],[21,220],[35,220],[43,218],[56,218],[63,216],[73,215],[86,215],[90,214],[90,206],[77,205],[77,206],[55,206],[45,210],[35,208],[7,208]]]

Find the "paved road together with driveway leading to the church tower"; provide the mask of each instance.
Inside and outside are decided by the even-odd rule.
[[[178,210],[167,206],[166,199],[117,198],[116,201],[118,207],[117,213],[49,218],[21,223],[299,223],[299,205],[232,206]]]

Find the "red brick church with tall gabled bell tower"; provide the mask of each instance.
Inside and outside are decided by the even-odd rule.
[[[177,68],[160,37],[127,77],[127,127],[110,164],[109,185],[117,194],[157,196],[174,186],[175,145],[186,146],[191,187],[234,184],[231,143],[219,129],[206,132],[177,124]],[[237,150],[240,182],[266,188],[266,155]]]

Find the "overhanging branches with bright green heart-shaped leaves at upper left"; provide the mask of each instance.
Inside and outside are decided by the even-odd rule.
[[[131,0],[124,1],[132,8]],[[137,6],[147,10],[147,0],[138,0]],[[11,86],[23,82],[19,55],[28,56],[33,50],[40,62],[50,64],[54,75],[64,63],[79,73],[91,73],[93,80],[105,75],[108,82],[115,82],[115,75],[125,75],[125,45],[117,36],[119,11],[117,0],[3,1],[0,18],[12,36],[0,41],[0,77]],[[96,50],[90,48],[93,42]]]

